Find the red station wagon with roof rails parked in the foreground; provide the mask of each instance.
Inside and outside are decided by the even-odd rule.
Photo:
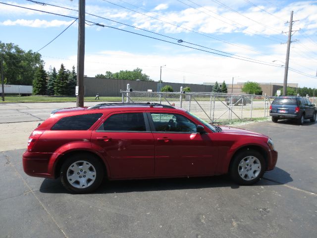
[[[266,135],[211,125],[161,104],[106,103],[60,109],[30,135],[26,174],[61,178],[72,193],[107,179],[213,176],[250,185],[277,161]]]

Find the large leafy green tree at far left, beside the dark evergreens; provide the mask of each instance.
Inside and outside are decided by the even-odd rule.
[[[2,52],[2,53],[1,53]],[[32,85],[35,71],[44,63],[36,52],[25,52],[13,43],[0,41],[4,80],[7,84]]]

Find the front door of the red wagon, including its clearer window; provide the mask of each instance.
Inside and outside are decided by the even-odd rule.
[[[217,150],[208,133],[179,113],[148,112],[155,140],[157,177],[212,175]]]

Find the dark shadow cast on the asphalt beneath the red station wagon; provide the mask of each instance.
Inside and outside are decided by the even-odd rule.
[[[293,181],[286,171],[275,168],[264,174],[264,178],[253,186],[280,185]],[[196,178],[172,178],[172,179],[138,179],[104,181],[94,193],[125,193],[135,191],[159,191],[178,189],[200,189],[212,187],[239,188],[228,175]],[[43,193],[69,193],[59,179],[44,179],[40,187]]]

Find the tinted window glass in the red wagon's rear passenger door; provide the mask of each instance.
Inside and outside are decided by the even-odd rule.
[[[143,113],[119,113],[111,115],[97,131],[146,131]]]

